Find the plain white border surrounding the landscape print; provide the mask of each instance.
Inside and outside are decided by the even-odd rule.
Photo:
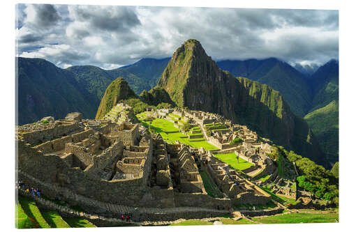
[[[2,229],[14,230],[14,212],[15,212],[15,196],[14,196],[14,167],[15,167],[15,143],[14,143],[14,125],[15,125],[15,3],[58,3],[58,4],[93,4],[93,5],[124,5],[124,6],[202,6],[202,7],[229,7],[229,8],[292,8],[292,9],[327,9],[327,10],[339,10],[339,63],[340,63],[340,223],[339,224],[273,224],[273,225],[242,225],[242,226],[173,226],[168,227],[166,230],[203,230],[211,231],[212,229],[223,231],[253,231],[257,229],[258,231],[344,231],[345,226],[348,224],[348,200],[346,199],[346,193],[348,192],[348,187],[346,186],[346,179],[348,178],[348,148],[346,146],[346,130],[348,130],[348,121],[346,116],[348,116],[348,93],[346,88],[348,86],[348,69],[346,68],[346,63],[348,63],[348,8],[346,8],[346,1],[302,1],[302,0],[292,0],[292,1],[277,1],[277,0],[264,0],[264,1],[136,1],[136,0],[70,0],[70,1],[10,1],[6,3],[1,3],[1,219],[0,222],[3,223]],[[141,229],[132,228],[117,228],[121,231],[163,231],[163,226],[161,227],[142,227]],[[56,229],[61,231],[62,229]],[[55,230],[55,231],[56,231]],[[87,229],[84,229],[87,230]],[[96,229],[93,229],[96,230]],[[98,230],[108,230],[115,231],[115,228],[110,229],[98,229]]]

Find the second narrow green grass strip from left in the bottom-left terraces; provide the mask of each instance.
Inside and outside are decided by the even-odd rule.
[[[50,225],[47,224],[47,222],[43,218],[43,215],[41,215],[40,210],[38,206],[36,206],[35,201],[24,196],[19,196],[18,201],[20,203],[20,206],[24,210],[25,214],[28,217],[31,217],[32,219],[34,219],[36,222],[38,222],[41,228],[50,228]]]

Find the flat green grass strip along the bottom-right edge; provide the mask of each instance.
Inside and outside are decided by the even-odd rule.
[[[262,222],[264,224],[283,224],[283,223],[325,223],[339,222],[338,212],[325,213],[290,213],[288,215],[274,215],[270,217],[253,217],[253,221]]]

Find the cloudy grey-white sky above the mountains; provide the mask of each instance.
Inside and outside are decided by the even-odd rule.
[[[216,61],[322,64],[339,53],[337,10],[19,4],[16,14],[17,56],[61,68],[169,57],[189,38]]]

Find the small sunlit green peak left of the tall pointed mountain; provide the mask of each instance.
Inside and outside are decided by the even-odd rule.
[[[135,95],[135,92],[128,86],[124,78],[115,79],[105,90],[101,104],[98,107],[96,119],[103,118],[114,105],[117,105],[117,102],[129,98],[138,98],[138,96]]]

